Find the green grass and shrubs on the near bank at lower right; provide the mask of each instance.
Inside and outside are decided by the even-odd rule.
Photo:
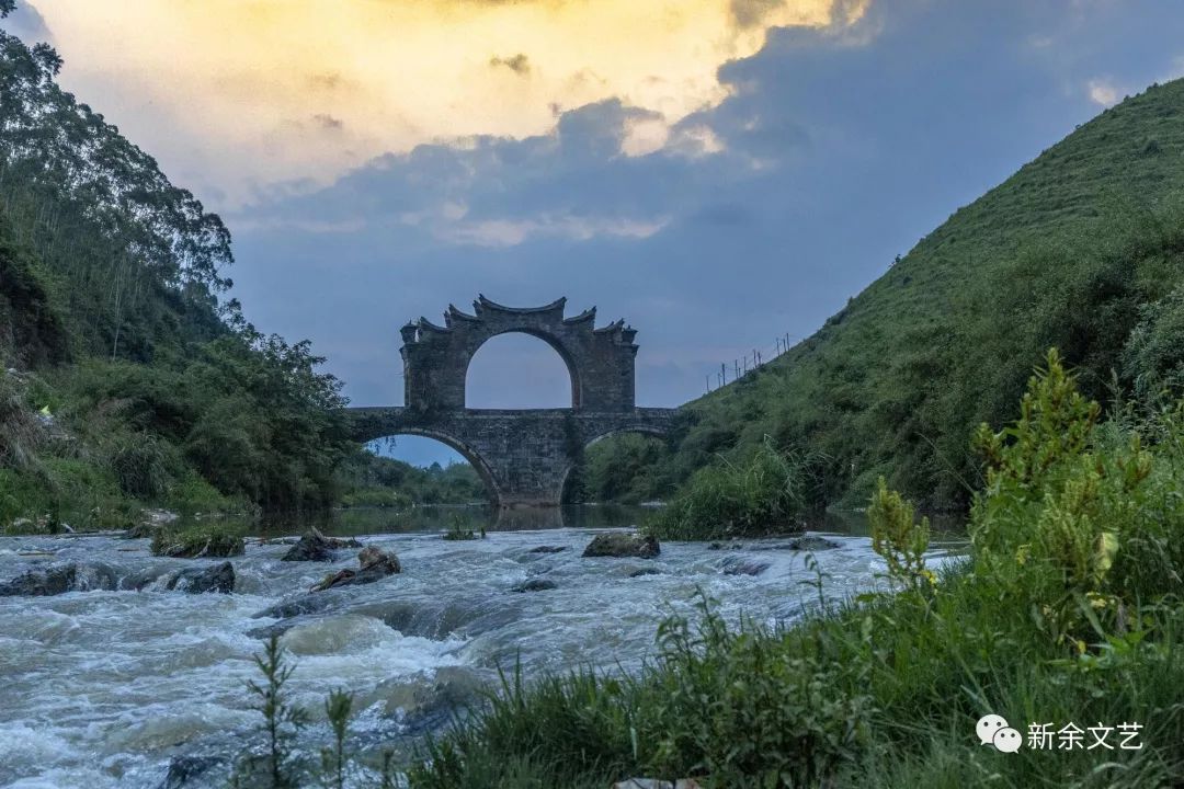
[[[1021,418],[974,436],[985,486],[965,560],[927,567],[924,524],[881,485],[881,591],[787,628],[736,629],[704,601],[699,622],[662,627],[637,677],[511,673],[430,745],[412,785],[1184,781],[1184,402],[1154,402],[1100,421],[1051,354]],[[980,744],[989,713],[1019,730],[1019,752]]]

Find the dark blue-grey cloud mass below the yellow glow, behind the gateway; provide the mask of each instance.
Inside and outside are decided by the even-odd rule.
[[[253,206],[230,218],[238,291],[262,326],[313,337],[358,403],[401,399],[407,318],[477,292],[566,295],[631,321],[639,402],[676,405],[720,361],[811,334],[1088,119],[1090,79],[1179,70],[1182,40],[1184,15],[1152,0],[877,2],[845,35],[776,31],[726,66],[729,98],[671,130],[709,137],[701,155],[623,155],[655,116],[612,101],[549,135],[420,145]],[[515,390],[501,369],[475,386]]]

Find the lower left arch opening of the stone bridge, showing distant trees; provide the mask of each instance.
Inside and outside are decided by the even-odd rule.
[[[497,487],[484,460],[448,436],[397,433],[366,444],[346,476],[360,504],[494,504]],[[347,500],[350,498],[347,494]]]

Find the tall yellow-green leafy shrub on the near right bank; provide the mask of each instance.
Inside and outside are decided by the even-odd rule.
[[[1178,552],[1146,548],[1179,533],[1184,509],[1172,491],[1184,470],[1165,453],[1153,474],[1154,457],[1137,432],[1107,445],[1096,429],[1100,413],[1051,350],[1021,401],[1019,420],[1000,433],[983,426],[974,439],[987,461],[971,515],[977,571],[1011,596],[1021,590],[1037,623],[1079,651],[1102,620],[1113,626],[1126,607],[1166,591],[1140,576],[1180,569],[1171,567]],[[1175,429],[1171,422],[1169,433]],[[1138,567],[1118,561],[1128,551],[1143,557]]]

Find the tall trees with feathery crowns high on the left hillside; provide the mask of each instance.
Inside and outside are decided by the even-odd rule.
[[[14,6],[2,0],[0,14]],[[136,313],[152,296],[213,315],[231,285],[231,238],[152,156],[62,90],[60,67],[50,45],[0,31],[0,220],[71,285],[71,306],[114,357],[129,321],[160,323]]]

